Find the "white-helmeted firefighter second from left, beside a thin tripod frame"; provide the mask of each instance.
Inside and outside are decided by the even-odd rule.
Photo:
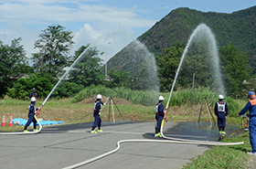
[[[92,124],[91,127],[91,133],[97,133],[94,129],[98,126],[98,132],[103,132],[101,130],[101,105],[103,105],[103,103],[101,102],[101,94],[97,95],[97,100],[94,101],[94,112],[93,112],[93,116],[94,116],[94,122]]]

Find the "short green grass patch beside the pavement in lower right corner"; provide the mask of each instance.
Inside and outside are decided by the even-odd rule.
[[[247,161],[251,159],[251,155],[247,152],[251,151],[249,143],[249,133],[244,132],[237,137],[230,136],[222,140],[225,143],[244,142],[244,144],[233,146],[213,146],[207,152],[198,155],[192,163],[187,164],[185,169],[197,168],[247,168]]]

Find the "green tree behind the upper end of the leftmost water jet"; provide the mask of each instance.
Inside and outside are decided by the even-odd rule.
[[[86,49],[87,46],[81,46],[75,51],[75,56],[72,60],[76,60],[80,57],[80,54]],[[69,73],[69,82],[77,83],[88,87],[91,85],[98,85],[102,83],[103,74],[101,73],[101,58],[98,57],[99,50],[96,47],[89,48],[85,54],[83,54],[78,63],[75,64]]]

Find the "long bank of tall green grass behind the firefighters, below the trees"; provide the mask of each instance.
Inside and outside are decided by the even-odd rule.
[[[111,98],[130,100],[134,104],[141,104],[144,106],[154,106],[155,103],[158,101],[158,96],[160,95],[164,96],[164,104],[166,105],[170,95],[169,92],[158,93],[154,90],[142,91],[130,90],[125,88],[109,89],[100,85],[97,87],[91,87],[81,90],[80,93],[78,93],[70,101],[72,103],[76,103],[99,93],[106,97],[111,96]],[[208,104],[213,110],[215,102],[219,100],[218,97],[219,94],[209,90],[208,88],[176,90],[171,95],[171,100],[169,102],[168,108],[174,106],[192,106],[201,103],[202,100],[207,100]],[[247,100],[233,100],[229,97],[225,97],[224,101],[226,101],[229,105],[230,117],[236,117],[240,109],[247,103]]]

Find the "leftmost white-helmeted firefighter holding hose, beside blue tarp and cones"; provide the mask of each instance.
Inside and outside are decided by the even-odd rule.
[[[28,107],[28,115],[27,115],[27,117],[28,117],[28,120],[27,120],[27,123],[26,123],[26,125],[25,125],[25,127],[24,127],[24,132],[28,132],[27,131],[27,127],[29,126],[29,124],[33,121],[33,123],[34,123],[34,132],[37,132],[38,130],[37,130],[37,120],[35,119],[35,111],[37,111],[38,109],[36,109],[36,107],[35,107],[35,103],[36,103],[36,98],[35,97],[32,97],[31,98],[31,104],[29,105],[29,107]]]

